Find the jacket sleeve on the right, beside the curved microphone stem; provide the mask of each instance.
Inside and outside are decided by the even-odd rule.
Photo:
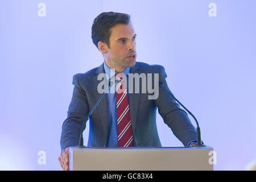
[[[159,81],[169,89],[166,77],[164,67],[160,66]],[[155,100],[155,105],[158,107],[158,112],[163,118],[164,123],[170,127],[172,133],[174,133],[175,137],[179,139],[184,146],[187,146],[192,140],[196,140],[196,130],[188,118],[187,113],[180,109],[180,105],[176,103],[174,97],[161,86],[159,86],[159,97]]]

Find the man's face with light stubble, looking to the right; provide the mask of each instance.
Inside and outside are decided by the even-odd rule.
[[[106,64],[122,72],[126,67],[133,67],[136,61],[136,41],[133,26],[117,24],[110,29],[108,53],[105,54]]]

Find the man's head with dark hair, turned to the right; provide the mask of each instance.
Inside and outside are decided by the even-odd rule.
[[[106,64],[117,72],[135,65],[135,36],[128,14],[101,13],[94,19],[93,43],[103,53]]]

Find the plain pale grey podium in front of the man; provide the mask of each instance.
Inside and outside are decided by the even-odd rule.
[[[213,148],[128,147],[69,149],[69,170],[82,171],[171,171],[213,170]]]

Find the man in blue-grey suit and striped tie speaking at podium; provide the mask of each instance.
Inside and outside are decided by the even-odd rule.
[[[113,71],[116,74],[122,73],[123,76],[116,75],[112,82],[115,92],[107,93],[90,115],[88,146],[161,147],[156,129],[156,107],[164,123],[184,146],[195,144],[195,127],[189,121],[187,113],[180,109],[166,90],[158,87],[160,81],[168,88],[164,68],[136,62],[135,39],[136,34],[127,14],[101,13],[94,19],[92,40],[104,56],[104,63],[86,73],[73,76],[75,87],[60,140],[62,153],[59,162],[64,170],[68,169],[69,147],[79,144],[82,123],[101,96],[99,85],[102,80],[99,80],[99,76],[102,73],[107,78],[112,77],[110,73]],[[142,92],[145,80],[141,79],[138,86],[130,79],[134,75],[148,76],[148,73],[152,77],[146,78],[147,84],[152,78],[152,85],[157,91],[154,99],[149,99],[153,96],[152,93]],[[124,81],[125,77],[128,81]],[[136,86],[139,87],[139,92],[134,92]],[[120,93],[118,89],[123,89],[124,92]]]

